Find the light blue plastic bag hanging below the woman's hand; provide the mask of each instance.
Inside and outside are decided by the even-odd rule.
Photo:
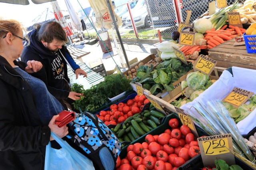
[[[58,135],[51,132],[51,136],[62,148],[54,149],[49,142],[46,146],[44,170],[95,170],[90,159],[70,147]]]

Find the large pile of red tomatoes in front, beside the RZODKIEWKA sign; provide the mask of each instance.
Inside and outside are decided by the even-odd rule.
[[[126,158],[118,157],[116,170],[176,170],[200,153],[191,130],[176,118],[160,135],[146,135],[145,142],[127,147]]]

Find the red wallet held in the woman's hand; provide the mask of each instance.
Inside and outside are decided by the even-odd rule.
[[[60,116],[55,120],[55,123],[58,125],[58,127],[63,127],[76,118],[76,114],[72,111],[63,110],[58,115]]]

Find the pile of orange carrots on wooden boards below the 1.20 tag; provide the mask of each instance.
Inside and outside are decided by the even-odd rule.
[[[244,28],[233,25],[229,25],[229,28],[227,27],[228,25],[224,25],[220,30],[215,31],[215,28],[212,28],[212,30],[206,31],[204,39],[207,41],[208,49],[212,49],[213,47],[216,47],[217,45],[220,45],[234,37],[242,36],[246,31]]]

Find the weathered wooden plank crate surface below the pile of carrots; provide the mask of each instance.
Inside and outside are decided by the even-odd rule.
[[[256,69],[256,53],[247,53],[245,45],[234,46],[235,39],[222,43],[208,51],[209,57],[217,61],[219,67],[238,66]]]

